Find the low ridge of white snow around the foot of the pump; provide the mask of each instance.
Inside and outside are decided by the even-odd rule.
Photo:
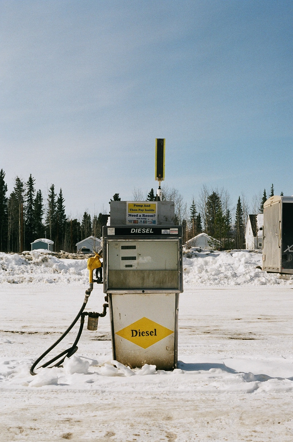
[[[30,361],[31,363],[32,361]],[[97,364],[97,361],[94,362]],[[125,389],[126,391],[141,388],[152,389],[156,392],[177,391],[190,388],[194,392],[206,393],[272,393],[292,392],[292,378],[270,377],[265,374],[253,374],[251,372],[237,372],[226,366],[223,362],[218,364],[196,364],[193,370],[188,369],[189,364],[179,362],[179,367],[173,371],[156,370],[156,366],[145,364],[141,369],[130,369],[117,361],[111,361],[102,365],[90,366],[88,360],[72,356],[66,358],[64,367],[40,368],[38,374],[31,376],[28,362],[15,360],[3,360],[0,362],[0,385],[14,387],[46,387],[59,389]],[[211,368],[209,368],[211,366]],[[155,375],[155,377],[154,377]],[[133,377],[131,384],[127,381],[110,382],[106,378]],[[144,377],[144,380],[141,379]],[[163,376],[163,377],[162,377]],[[137,385],[137,387],[136,387]]]

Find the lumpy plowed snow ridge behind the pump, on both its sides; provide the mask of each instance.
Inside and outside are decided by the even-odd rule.
[[[190,256],[190,258],[187,258]],[[183,257],[184,283],[189,286],[237,286],[293,284],[279,274],[260,268],[262,255],[248,251],[196,252]],[[283,278],[283,277],[282,277]],[[0,283],[76,283],[87,284],[87,259],[59,259],[40,251],[25,255],[0,253]]]

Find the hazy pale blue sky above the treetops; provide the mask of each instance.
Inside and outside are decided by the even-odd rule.
[[[0,1],[0,168],[66,213],[154,181],[293,194],[292,1]]]

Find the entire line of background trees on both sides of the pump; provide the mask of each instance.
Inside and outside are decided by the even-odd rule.
[[[76,251],[76,243],[87,238],[102,236],[103,225],[107,224],[107,215],[91,215],[84,212],[81,220],[72,219],[65,214],[65,199],[54,184],[49,187],[44,201],[42,191],[35,187],[35,179],[30,174],[27,182],[18,176],[14,188],[8,196],[5,173],[0,171],[0,251],[22,252],[30,250],[31,243],[39,238],[53,240],[53,250]],[[240,195],[236,207],[232,207],[228,191],[209,190],[205,185],[197,201],[193,198],[190,206],[175,187],[162,186],[163,200],[175,203],[175,224],[183,226],[183,242],[194,245],[193,238],[205,232],[213,238],[214,246],[219,250],[245,248],[245,229],[249,214],[249,205],[244,194]],[[283,193],[281,192],[281,195]],[[270,196],[274,195],[274,185]],[[145,196],[140,189],[134,188],[134,201],[155,201],[154,189]],[[251,213],[263,213],[263,204],[267,199],[255,195]],[[120,201],[119,193],[113,195],[114,201]],[[112,201],[112,199],[110,200]],[[110,203],[110,202],[109,202]],[[234,219],[232,220],[232,213]]]

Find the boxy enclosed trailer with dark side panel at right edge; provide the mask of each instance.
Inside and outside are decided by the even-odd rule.
[[[263,205],[263,270],[293,274],[293,197],[272,196]]]

